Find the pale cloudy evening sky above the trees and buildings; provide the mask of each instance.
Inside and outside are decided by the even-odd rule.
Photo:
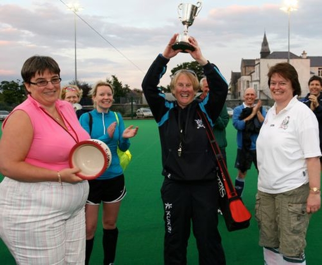
[[[204,0],[189,28],[204,56],[217,64],[226,80],[240,72],[241,58],[260,57],[266,32],[271,51],[288,49],[288,15],[284,0]],[[74,79],[74,14],[67,0],[0,0],[0,82],[21,80],[23,62],[49,55],[60,65],[63,84]],[[78,0],[76,17],[77,79],[90,84],[111,75],[131,89],[141,88],[150,63],[174,33],[181,33],[180,3],[197,0]],[[290,14],[290,51],[322,56],[322,2],[299,0]],[[192,61],[180,53],[170,70]],[[161,82],[166,86],[169,75]]]

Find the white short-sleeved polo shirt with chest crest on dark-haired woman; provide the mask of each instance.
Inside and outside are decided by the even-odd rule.
[[[305,158],[321,156],[318,123],[313,112],[293,97],[276,114],[266,114],[256,142],[258,189],[281,193],[308,183]]]

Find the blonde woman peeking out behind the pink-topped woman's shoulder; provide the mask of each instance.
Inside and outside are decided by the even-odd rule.
[[[83,113],[87,111],[83,109],[83,106],[79,104],[83,96],[83,90],[75,85],[68,85],[61,89],[60,98],[62,100],[68,101],[72,104],[77,118],[81,117]]]

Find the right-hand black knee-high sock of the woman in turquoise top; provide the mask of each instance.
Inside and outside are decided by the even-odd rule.
[[[114,262],[118,234],[117,227],[112,230],[103,229],[104,265]]]

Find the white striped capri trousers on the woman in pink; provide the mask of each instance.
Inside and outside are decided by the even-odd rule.
[[[84,264],[88,181],[0,183],[0,237],[17,264]]]

